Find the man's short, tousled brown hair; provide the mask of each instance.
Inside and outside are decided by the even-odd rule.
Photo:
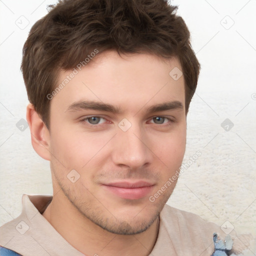
[[[177,6],[166,0],[59,0],[31,28],[21,70],[28,100],[49,129],[50,100],[61,69],[74,68],[95,48],[178,57],[185,81],[185,111],[200,65]]]

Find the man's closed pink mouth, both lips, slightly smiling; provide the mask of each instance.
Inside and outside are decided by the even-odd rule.
[[[124,199],[140,199],[149,194],[154,184],[146,181],[112,182],[102,184],[107,191]]]

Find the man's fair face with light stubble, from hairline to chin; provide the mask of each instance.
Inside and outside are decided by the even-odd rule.
[[[174,67],[181,70],[176,58],[106,51],[50,101],[53,186],[110,232],[144,231],[176,184],[166,182],[182,162],[186,117],[184,79],[169,75]],[[70,73],[61,71],[58,84]]]

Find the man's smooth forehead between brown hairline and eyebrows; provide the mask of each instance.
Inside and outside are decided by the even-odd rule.
[[[173,70],[178,72],[178,79]],[[57,86],[64,86],[53,96],[51,109],[66,111],[82,100],[108,103],[133,112],[167,101],[183,104],[181,74],[181,65],[175,57],[166,60],[149,53],[119,56],[116,51],[102,52],[80,69],[60,71]]]

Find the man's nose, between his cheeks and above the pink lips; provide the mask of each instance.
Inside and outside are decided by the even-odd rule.
[[[148,138],[138,124],[123,131],[118,127],[112,140],[112,160],[118,166],[139,169],[152,161],[152,151],[147,146]]]

